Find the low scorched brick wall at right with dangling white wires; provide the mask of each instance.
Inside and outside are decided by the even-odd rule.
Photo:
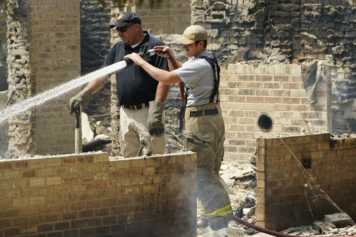
[[[303,175],[279,138],[257,139],[257,224],[277,231],[310,224],[314,220],[306,200],[315,220],[339,212],[320,196],[316,202],[306,199],[305,190],[312,196],[310,189],[304,187],[307,183],[313,185],[315,194],[323,194],[314,185],[320,184],[331,200],[355,220],[356,138],[331,138],[330,133],[321,133],[281,139],[301,164],[309,160],[310,168]]]

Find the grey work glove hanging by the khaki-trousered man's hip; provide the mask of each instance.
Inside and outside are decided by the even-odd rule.
[[[162,114],[165,104],[160,101],[150,101],[147,127],[150,135],[159,136],[164,133]]]

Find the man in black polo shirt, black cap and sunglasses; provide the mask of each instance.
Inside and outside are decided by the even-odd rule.
[[[110,50],[103,67],[121,61],[127,54],[138,53],[145,43],[149,45],[148,50],[164,45],[142,30],[141,20],[133,12],[120,14],[110,25],[110,28],[114,27],[122,41]],[[145,60],[155,67],[169,70],[167,59],[156,54]],[[82,103],[91,100],[92,94],[100,90],[108,78],[109,76],[103,76],[89,82],[80,93],[70,99],[70,111],[73,112]],[[119,141],[122,155],[136,156],[141,140],[146,141],[147,148],[153,153],[163,153],[166,145],[163,112],[169,86],[158,83],[144,69],[132,65],[116,73],[116,91],[121,105]]]

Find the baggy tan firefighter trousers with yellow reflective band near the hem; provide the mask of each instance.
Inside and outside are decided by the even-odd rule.
[[[191,111],[205,109],[217,109],[219,114],[190,116]],[[205,215],[210,222],[231,220],[234,214],[229,194],[219,180],[225,139],[221,108],[216,103],[188,106],[184,120],[187,149],[197,152],[197,194]]]

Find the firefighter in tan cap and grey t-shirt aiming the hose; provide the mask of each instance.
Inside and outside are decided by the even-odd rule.
[[[183,64],[174,58],[178,66],[175,70],[168,60],[170,72],[148,64],[137,54],[127,57],[161,83],[184,83],[184,137],[186,148],[197,152],[198,198],[203,206],[202,216],[207,218],[198,221],[198,227],[209,224],[211,229],[217,230],[228,227],[228,222],[234,218],[229,195],[219,179],[225,136],[224,120],[217,103],[220,67],[215,55],[206,50],[207,32],[203,27],[189,26],[177,41],[183,44],[186,55],[192,58]],[[169,47],[157,48],[166,53],[160,56],[173,56]],[[207,222],[204,223],[204,219]]]

